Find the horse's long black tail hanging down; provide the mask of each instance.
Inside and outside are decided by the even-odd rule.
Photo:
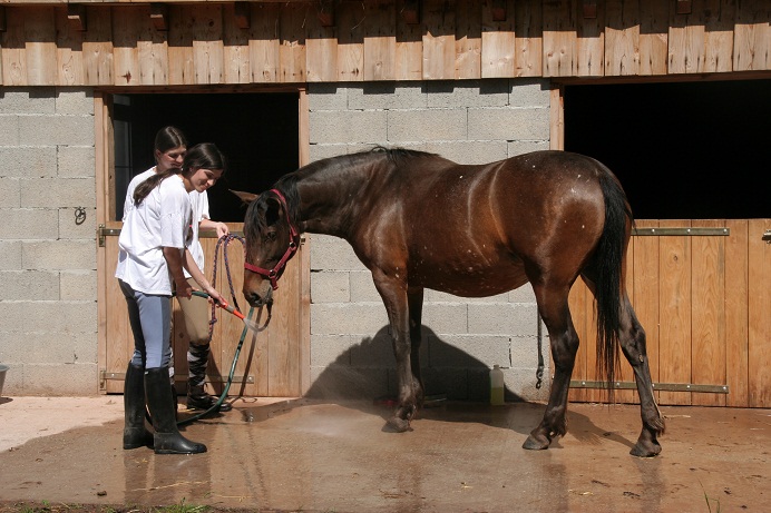
[[[595,251],[595,298],[597,302],[597,371],[605,378],[613,401],[618,368],[618,334],[622,315],[622,279],[627,226],[634,225],[624,189],[603,166],[599,186],[605,198],[605,226]]]

